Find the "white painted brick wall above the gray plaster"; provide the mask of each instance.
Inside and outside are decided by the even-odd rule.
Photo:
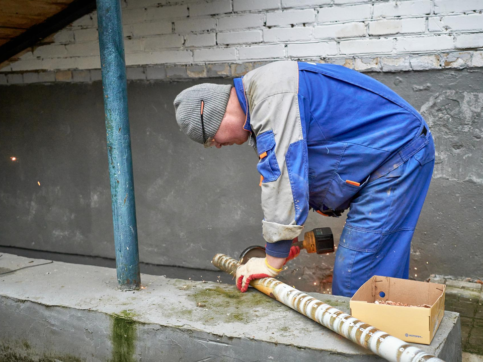
[[[398,71],[482,62],[483,0],[126,0],[122,4],[130,66],[196,68],[204,63],[304,59]],[[96,12],[48,41],[52,43],[39,43],[3,63],[0,73],[100,67]],[[134,73],[155,76],[159,71]],[[27,77],[31,78],[35,77]]]

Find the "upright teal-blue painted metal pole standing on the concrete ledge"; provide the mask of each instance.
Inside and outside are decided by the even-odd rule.
[[[120,0],[97,0],[117,282],[139,289],[139,250]]]

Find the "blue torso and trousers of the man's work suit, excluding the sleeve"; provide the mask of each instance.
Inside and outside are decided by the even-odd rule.
[[[309,204],[332,215],[349,207],[333,294],[351,297],[373,275],[407,279],[411,240],[434,167],[428,125],[406,101],[363,74],[299,63],[299,77],[299,104],[309,109],[300,110],[307,125]]]

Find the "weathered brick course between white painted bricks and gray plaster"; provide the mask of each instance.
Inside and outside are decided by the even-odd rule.
[[[475,52],[431,53],[416,56],[339,56],[326,59],[303,58],[306,61],[335,63],[362,72],[403,72],[420,70],[451,70],[483,67],[483,52],[480,63],[473,65]],[[459,57],[458,55],[465,55]],[[399,59],[399,64],[393,64]],[[232,78],[246,74],[272,60],[247,62],[201,62],[192,64],[146,65],[127,67],[128,80],[186,80],[200,78]],[[100,69],[67,69],[47,71],[0,72],[0,85],[51,82],[92,82],[101,79]]]

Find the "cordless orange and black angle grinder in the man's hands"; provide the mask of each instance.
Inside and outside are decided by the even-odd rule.
[[[334,235],[330,227],[315,228],[303,234],[303,240],[297,241],[292,246],[299,246],[308,253],[327,254],[334,252]],[[265,257],[265,247],[252,245],[240,254],[240,264],[245,264],[253,257]]]

